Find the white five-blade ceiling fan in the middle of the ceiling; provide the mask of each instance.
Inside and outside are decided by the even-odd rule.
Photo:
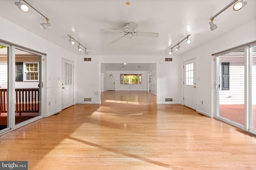
[[[139,36],[146,36],[146,37],[158,37],[158,33],[149,33],[149,32],[136,32],[136,28],[138,27],[138,23],[130,22],[126,23],[125,27],[122,31],[112,30],[112,29],[100,29],[100,31],[109,31],[109,32],[116,32],[116,33],[123,33],[121,37],[118,39],[115,39],[114,41],[111,41],[110,43],[115,43],[119,41],[120,39],[124,37],[128,37],[134,40],[135,45],[141,45],[142,43],[137,38],[137,35]]]

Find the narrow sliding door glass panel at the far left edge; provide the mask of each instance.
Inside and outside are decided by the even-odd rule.
[[[8,47],[0,44],[0,131],[9,127],[7,111]]]

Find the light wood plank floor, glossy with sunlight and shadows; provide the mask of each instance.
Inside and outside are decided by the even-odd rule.
[[[108,91],[0,137],[29,170],[252,170],[256,137],[148,92]]]

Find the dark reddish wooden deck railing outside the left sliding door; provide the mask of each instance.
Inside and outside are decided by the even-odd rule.
[[[15,112],[31,113],[39,112],[39,89],[17,88],[15,89]],[[7,89],[0,89],[0,114],[7,112]]]

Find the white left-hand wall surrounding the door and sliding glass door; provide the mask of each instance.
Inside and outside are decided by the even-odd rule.
[[[0,23],[0,39],[35,51],[40,51],[47,55],[45,61],[46,77],[44,77],[44,88],[46,88],[46,112],[43,114],[44,116],[49,116],[57,113],[61,110],[61,58],[63,57],[71,60],[74,62],[74,65],[76,65],[76,55],[2,17],[0,17]],[[42,31],[45,31],[47,34],[47,30]],[[76,89],[74,94],[76,94]],[[51,104],[50,106],[48,106],[49,102]]]

